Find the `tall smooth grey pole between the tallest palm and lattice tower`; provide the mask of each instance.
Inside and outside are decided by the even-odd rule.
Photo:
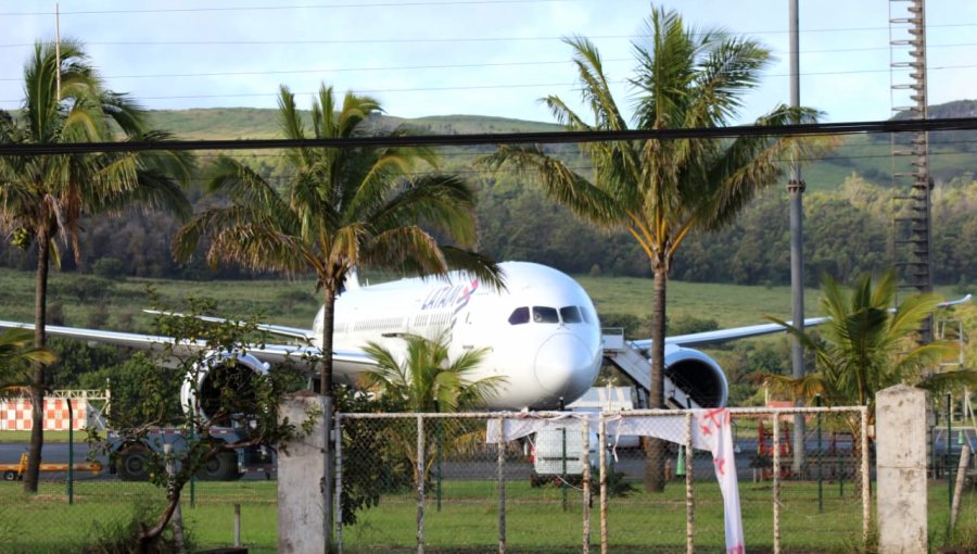
[[[790,105],[800,106],[800,72],[798,39],[798,0],[790,0]],[[787,192],[790,196],[790,299],[792,306],[791,323],[795,327],[804,327],[804,181],[801,179],[797,153],[791,154],[790,180]],[[804,347],[796,337],[790,338],[791,376],[800,379],[804,376]],[[803,400],[795,400],[795,405],[803,406]],[[794,416],[794,462],[795,474],[804,466],[804,417]],[[778,471],[779,468],[774,468]]]

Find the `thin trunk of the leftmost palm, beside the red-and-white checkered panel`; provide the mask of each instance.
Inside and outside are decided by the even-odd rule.
[[[37,237],[37,275],[34,282],[34,345],[45,348],[47,305],[48,305],[48,267],[50,241],[47,234],[38,232]],[[24,474],[24,491],[37,492],[40,475],[41,450],[45,448],[45,366],[36,363],[30,379],[30,448],[27,451],[27,468]]]

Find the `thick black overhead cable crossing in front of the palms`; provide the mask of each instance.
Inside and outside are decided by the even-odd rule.
[[[617,131],[481,133],[472,135],[376,136],[320,139],[220,139],[48,144],[0,143],[0,155],[58,155],[157,150],[269,150],[290,148],[357,148],[393,146],[471,146],[520,143],[582,143],[626,140],[718,139],[745,136],[815,136],[877,133],[974,130],[977,117],[879,122],[813,123],[802,125],[741,125],[716,128],[636,129]]]

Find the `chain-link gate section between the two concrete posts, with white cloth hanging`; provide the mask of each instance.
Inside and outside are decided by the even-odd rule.
[[[723,431],[720,413],[733,448],[716,456],[697,446]],[[352,552],[726,550],[732,474],[751,547],[858,546],[864,421],[863,408],[344,414],[338,539]]]

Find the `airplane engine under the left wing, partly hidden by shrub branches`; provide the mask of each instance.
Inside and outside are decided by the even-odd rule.
[[[195,411],[214,425],[230,427],[254,406],[251,380],[270,366],[251,354],[214,352],[187,376],[180,389],[180,405]]]

